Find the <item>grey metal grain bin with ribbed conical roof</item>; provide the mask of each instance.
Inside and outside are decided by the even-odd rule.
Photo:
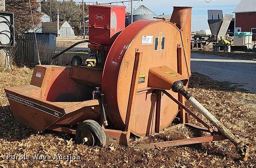
[[[152,19],[155,20],[154,17],[158,17],[157,14],[152,12],[150,9],[148,9],[146,6],[141,5],[133,12],[133,22],[137,20],[142,19]],[[131,24],[131,15],[128,15],[126,17],[126,26]]]

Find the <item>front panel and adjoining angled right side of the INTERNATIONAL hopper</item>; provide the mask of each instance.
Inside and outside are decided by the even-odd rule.
[[[31,88],[27,85],[28,89]],[[24,90],[24,86],[20,86]],[[51,124],[77,125],[86,119],[100,121],[101,108],[98,100],[84,102],[48,102],[23,94],[19,87],[6,89],[12,112],[16,120],[39,132]],[[25,89],[26,90],[26,89]],[[26,90],[26,91],[27,91]],[[15,97],[14,97],[15,96]]]

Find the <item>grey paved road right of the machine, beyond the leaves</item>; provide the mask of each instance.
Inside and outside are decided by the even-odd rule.
[[[256,93],[256,61],[192,53],[191,70]]]

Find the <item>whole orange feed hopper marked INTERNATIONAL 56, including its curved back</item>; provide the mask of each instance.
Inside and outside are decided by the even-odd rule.
[[[100,102],[92,99],[94,87],[76,83],[69,78],[69,71],[64,66],[36,66],[30,85],[6,88],[16,120],[39,132],[53,123],[77,125],[86,119],[100,122]]]

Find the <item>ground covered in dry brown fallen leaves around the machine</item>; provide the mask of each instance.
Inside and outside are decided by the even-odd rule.
[[[249,134],[248,162],[238,159],[235,147],[228,140],[181,147],[144,149],[138,144],[177,140],[206,135],[183,125],[152,137],[131,138],[130,146],[111,145],[105,148],[77,145],[74,136],[53,131],[38,133],[14,120],[4,87],[28,84],[32,69],[0,70],[0,167],[255,167],[256,166],[256,94],[237,90],[229,83],[213,81],[193,73],[189,92],[216,118],[232,131]],[[191,104],[186,104],[191,110]],[[198,114],[198,113],[197,113]],[[198,114],[199,115],[199,114]],[[201,115],[199,115],[201,116]],[[191,117],[190,117],[191,118]],[[203,117],[202,117],[203,118]],[[190,122],[196,123],[190,119]],[[227,150],[223,152],[222,147]],[[44,156],[76,155],[81,160],[6,160],[6,156],[42,154]]]

